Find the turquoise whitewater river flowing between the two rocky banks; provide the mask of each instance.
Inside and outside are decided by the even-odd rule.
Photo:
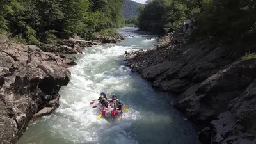
[[[136,38],[96,45],[76,54],[70,83],[60,90],[61,107],[30,124],[17,144],[197,144],[195,129],[170,106],[170,96],[157,92],[125,66],[125,51],[157,44],[134,30],[122,28],[118,32]],[[97,120],[100,112],[89,103],[98,99],[101,91],[116,93],[129,108],[123,121]]]

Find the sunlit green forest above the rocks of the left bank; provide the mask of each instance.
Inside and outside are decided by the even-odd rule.
[[[52,42],[54,33],[93,33],[124,25],[123,0],[1,0],[0,33],[24,44]]]

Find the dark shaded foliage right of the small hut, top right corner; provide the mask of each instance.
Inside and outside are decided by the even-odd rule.
[[[224,42],[255,38],[256,3],[250,0],[212,0],[196,17],[193,36],[220,38]]]

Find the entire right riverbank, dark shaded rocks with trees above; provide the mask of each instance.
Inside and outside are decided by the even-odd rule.
[[[256,143],[255,8],[250,0],[152,0],[139,8],[138,27],[164,36],[153,49],[124,54],[127,65],[175,94],[172,105],[196,124],[202,143]]]

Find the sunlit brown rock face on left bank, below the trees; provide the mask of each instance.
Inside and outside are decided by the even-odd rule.
[[[0,45],[0,143],[16,143],[30,120],[59,106],[72,58],[43,52],[34,45]]]

